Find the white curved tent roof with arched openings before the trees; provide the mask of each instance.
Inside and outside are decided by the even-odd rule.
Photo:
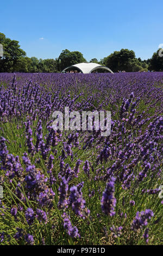
[[[106,66],[102,66],[100,64],[97,64],[97,63],[78,63],[78,64],[74,64],[72,66],[67,66],[66,69],[62,70],[62,72],[66,71],[67,69],[70,69],[70,68],[77,68],[83,74],[89,74],[89,73],[91,73],[92,71],[94,71],[96,69],[105,69],[105,70],[110,71],[112,74],[114,74],[111,71],[111,69],[107,68]]]

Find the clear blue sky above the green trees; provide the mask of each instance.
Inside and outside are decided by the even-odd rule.
[[[0,32],[18,40],[28,57],[57,58],[67,48],[89,61],[128,48],[147,59],[163,43],[162,0],[8,0],[0,6]]]

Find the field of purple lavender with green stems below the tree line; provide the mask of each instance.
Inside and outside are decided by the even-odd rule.
[[[163,72],[0,74],[0,245],[161,245]],[[111,111],[111,133],[54,111]]]

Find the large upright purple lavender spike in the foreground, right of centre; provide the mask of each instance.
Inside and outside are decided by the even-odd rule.
[[[114,196],[115,192],[115,178],[112,176],[109,182],[106,184],[106,188],[103,192],[102,200],[101,200],[101,208],[104,214],[114,216],[115,215],[115,206],[116,206],[116,198]]]

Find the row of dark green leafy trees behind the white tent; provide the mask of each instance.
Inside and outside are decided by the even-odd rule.
[[[87,62],[81,52],[71,52],[67,49],[63,50],[60,56],[55,59],[29,58],[18,43],[18,41],[11,40],[3,33],[0,33],[0,44],[3,46],[3,54],[0,54],[0,72],[61,72],[67,66]],[[147,60],[136,58],[135,52],[132,50],[121,49],[100,61],[93,58],[90,62],[108,66],[114,72],[122,70],[126,72],[163,71],[163,57],[159,56],[159,50],[153,53],[151,59]]]

